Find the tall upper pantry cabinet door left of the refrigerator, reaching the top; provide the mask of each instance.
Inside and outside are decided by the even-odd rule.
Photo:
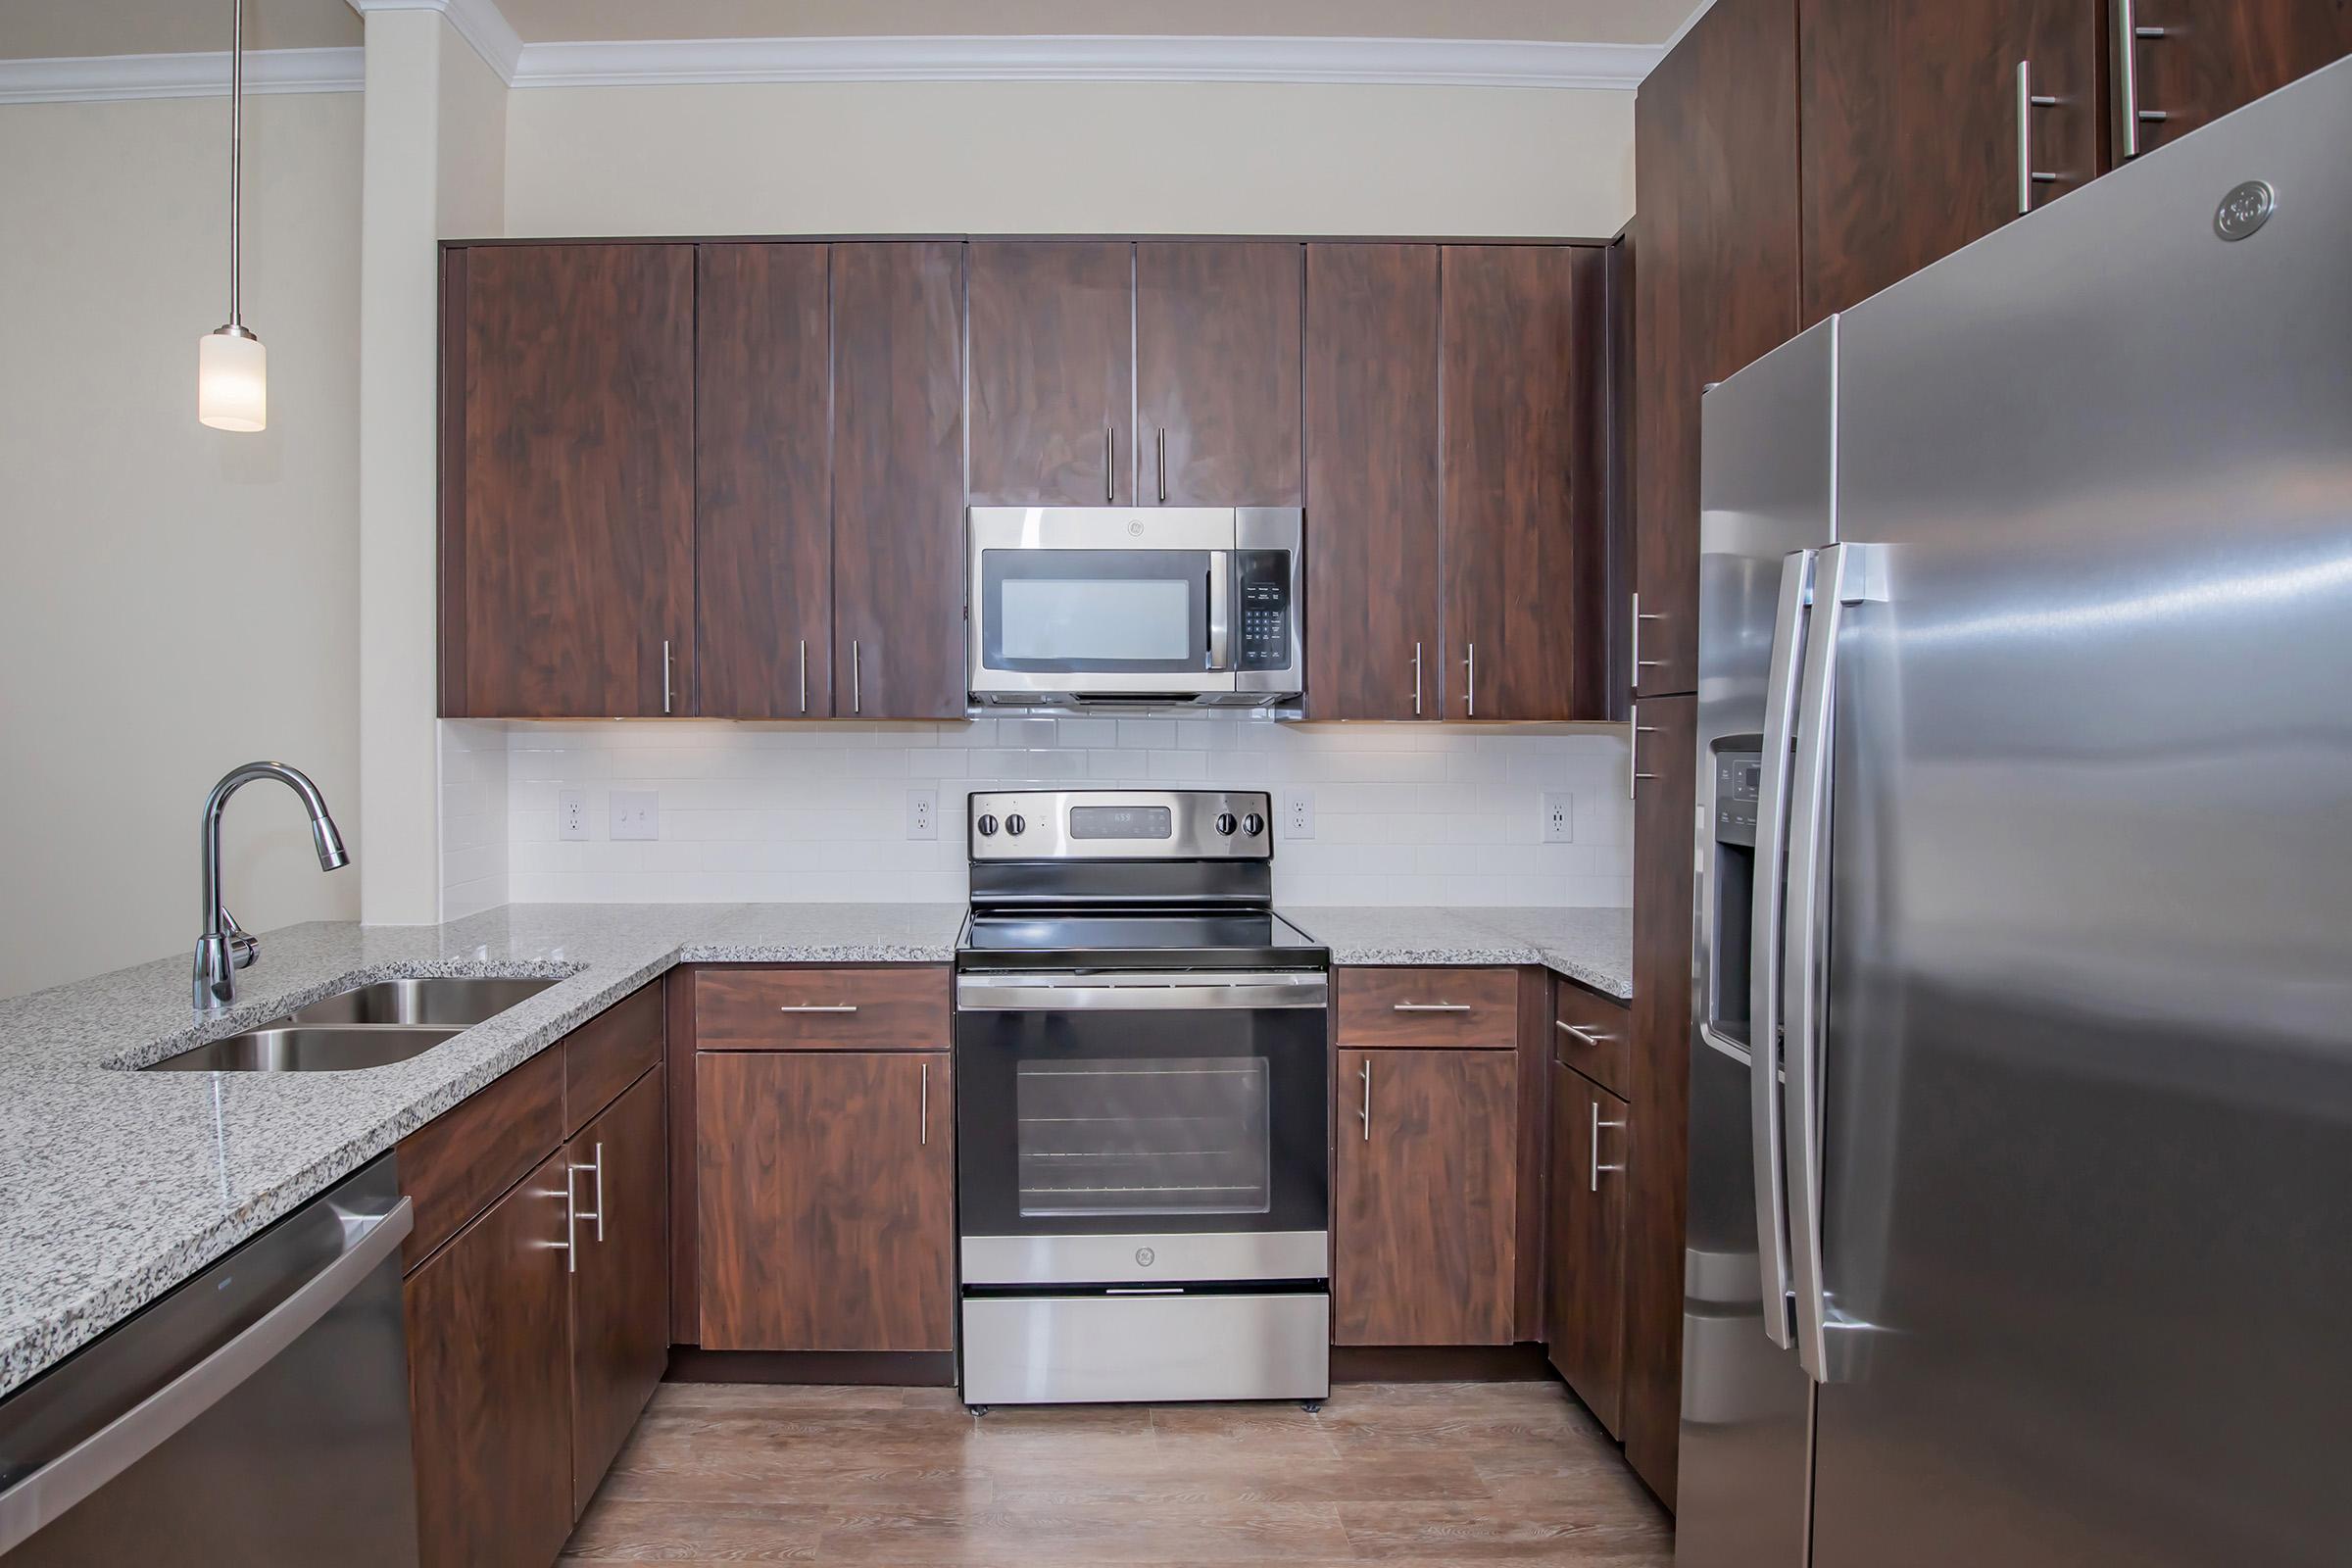
[[[1635,691],[1698,689],[1698,395],[1797,331],[1797,0],[1717,0],[1635,96]]]

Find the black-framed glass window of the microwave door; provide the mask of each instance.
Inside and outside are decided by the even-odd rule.
[[[1209,668],[1207,550],[983,550],[990,670],[1174,675]]]

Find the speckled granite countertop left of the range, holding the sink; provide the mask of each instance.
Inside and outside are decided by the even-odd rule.
[[[946,961],[964,905],[508,905],[268,931],[202,1023],[188,959],[0,1001],[0,1394],[680,961]],[[127,1072],[395,976],[564,976],[367,1072]]]

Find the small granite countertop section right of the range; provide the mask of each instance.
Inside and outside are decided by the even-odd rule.
[[[1632,999],[1632,910],[1315,905],[1282,917],[1324,943],[1334,964],[1543,964]]]

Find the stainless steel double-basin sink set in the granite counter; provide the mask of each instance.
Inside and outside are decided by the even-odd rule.
[[[148,1063],[146,1072],[355,1072],[423,1056],[557,980],[426,976],[306,1001],[242,1034]]]

